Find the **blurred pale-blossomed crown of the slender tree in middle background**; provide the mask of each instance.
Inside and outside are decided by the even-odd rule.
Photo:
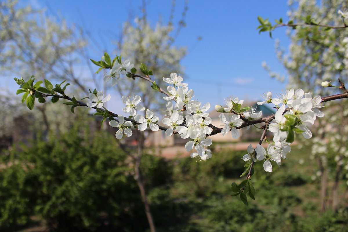
[[[143,1],[142,17],[134,18],[134,22],[125,22],[123,25],[120,39],[116,41],[117,54],[121,54],[124,59],[131,59],[131,62],[137,68],[142,62],[152,70],[151,79],[160,86],[163,83],[163,77],[170,77],[170,73],[175,70],[183,74],[183,67],[180,65],[181,59],[186,55],[185,47],[176,47],[173,45],[175,39],[185,26],[185,15],[188,9],[188,2],[185,2],[182,18],[179,21],[176,30],[174,30],[173,18],[175,13],[175,0],[172,1],[172,11],[169,15],[167,25],[161,21],[155,26],[147,19],[146,5]],[[138,72],[140,70],[138,69]],[[141,96],[145,108],[152,110],[163,109],[163,96],[156,91],[149,91],[149,85],[146,82],[135,82],[132,79],[119,82],[117,85],[120,95],[131,96],[137,94]]]

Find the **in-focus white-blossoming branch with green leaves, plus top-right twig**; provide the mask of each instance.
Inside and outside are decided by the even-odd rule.
[[[341,14],[341,12],[339,12]],[[346,13],[342,13],[343,22]],[[307,22],[308,21],[308,22]],[[306,25],[317,25],[313,23],[310,18],[305,22]],[[264,21],[259,17],[260,32],[271,31],[278,26],[301,26],[302,24],[283,24],[279,20],[276,26],[270,25],[268,20]],[[312,22],[312,23],[310,23]],[[345,28],[331,27],[331,28]],[[177,73],[171,73],[170,77],[164,77],[163,81],[168,84],[166,88],[162,88],[155,81],[151,80],[153,75],[147,66],[141,64],[139,67],[141,75],[136,74],[137,70],[129,59],[121,60],[121,56],[116,56],[111,60],[108,54],[104,54],[101,61],[91,61],[99,66],[96,73],[102,69],[108,69],[107,75],[104,77],[105,82],[111,82],[112,86],[117,85],[120,77],[126,76],[128,78],[140,78],[151,83],[153,90],[164,94],[163,100],[166,104],[166,114],[162,123],[165,127],[158,125],[159,117],[155,116],[151,109],[145,109],[142,106],[140,96],[122,96],[122,102],[125,107],[122,109],[122,114],[116,114],[106,109],[104,103],[110,101],[110,95],[104,96],[103,91],[94,89],[90,91],[88,103],[78,101],[74,96],[71,98],[65,94],[65,89],[69,83],[63,85],[53,84],[44,80],[37,81],[32,76],[25,81],[23,78],[15,78],[19,85],[17,94],[24,93],[22,103],[26,103],[27,107],[32,110],[35,103],[35,98],[39,103],[45,103],[46,97],[52,97],[51,101],[56,103],[60,98],[68,100],[64,102],[65,105],[70,105],[70,110],[74,113],[74,108],[77,106],[86,106],[95,109],[94,115],[103,117],[101,126],[106,119],[109,119],[109,125],[117,128],[116,138],[121,139],[124,135],[132,136],[131,128],[144,131],[149,128],[152,131],[165,130],[167,136],[173,134],[180,134],[181,138],[191,138],[185,144],[187,151],[192,151],[191,157],[196,158],[197,161],[206,161],[212,158],[212,152],[208,147],[212,144],[212,139],[209,136],[221,133],[223,136],[231,136],[234,139],[239,138],[239,129],[253,126],[258,123],[263,123],[260,127],[261,137],[260,142],[256,147],[250,144],[246,150],[247,154],[241,157],[245,162],[245,171],[240,177],[246,176],[245,180],[240,184],[232,183],[232,195],[239,195],[240,199],[247,205],[247,195],[255,199],[255,190],[250,182],[253,175],[253,166],[257,161],[263,161],[263,168],[267,172],[273,169],[272,163],[280,166],[282,159],[286,158],[287,153],[291,152],[291,143],[294,142],[295,134],[302,134],[306,139],[312,137],[309,125],[313,125],[317,117],[324,117],[324,113],[319,109],[323,107],[322,103],[333,101],[341,98],[348,98],[348,91],[344,83],[338,79],[338,86],[333,86],[330,82],[324,81],[322,87],[333,87],[342,90],[342,93],[321,97],[312,96],[312,93],[304,93],[302,89],[289,89],[279,95],[274,96],[271,92],[263,94],[264,101],[258,102],[258,105],[272,104],[277,110],[275,114],[268,117],[260,118],[262,111],[258,112],[256,107],[243,106],[244,101],[235,98],[226,98],[224,106],[216,105],[215,110],[220,112],[220,120],[223,128],[216,127],[211,124],[212,120],[209,118],[208,110],[210,103],[202,103],[195,99],[194,91],[188,88],[187,83],[183,83],[183,77]],[[41,85],[44,84],[45,87]],[[83,98],[83,99],[85,99]],[[82,100],[82,99],[81,99]],[[142,114],[144,112],[144,114]],[[119,113],[119,112],[118,112]],[[272,136],[267,136],[267,133],[272,133]],[[229,135],[230,134],[230,135]],[[273,141],[269,141],[267,137],[273,137]],[[261,144],[266,141],[269,145],[267,150]]]

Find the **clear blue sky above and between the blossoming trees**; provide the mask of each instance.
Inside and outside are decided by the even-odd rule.
[[[68,23],[87,25],[85,29],[100,42],[100,48],[111,53],[113,36],[120,33],[130,12],[133,16],[141,15],[142,1],[20,1],[22,6],[27,4],[33,8],[46,7],[48,15],[60,15]],[[176,1],[174,22],[180,20],[183,6],[183,0]],[[282,47],[288,47],[286,29],[277,29],[271,39],[267,33],[259,34],[256,27],[257,16],[271,21],[286,19],[286,1],[196,0],[189,1],[188,8],[187,26],[181,30],[175,46],[188,47],[189,54],[181,62],[185,67],[184,82],[195,90],[199,101],[210,102],[212,106],[223,105],[223,99],[229,96],[258,101],[264,92],[276,94],[285,90],[285,84],[271,79],[261,63],[266,61],[272,71],[286,73],[274,51],[275,39],[280,40]],[[159,17],[167,22],[170,9],[171,1],[147,1],[152,23]],[[198,37],[203,39],[196,44]],[[91,53],[91,58],[98,59],[101,55],[102,51]]]

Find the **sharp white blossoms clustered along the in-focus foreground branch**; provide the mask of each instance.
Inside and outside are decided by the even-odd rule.
[[[120,74],[126,74],[133,64],[129,60],[125,62],[115,62],[110,73],[105,76],[104,80],[113,80],[113,84],[117,83]],[[210,103],[202,104],[195,99],[194,91],[188,88],[187,83],[183,83],[183,77],[177,73],[171,73],[169,78],[163,78],[167,86],[167,96],[163,97],[168,101],[165,110],[165,118],[161,121],[166,129],[166,136],[180,134],[181,138],[190,138],[185,144],[187,151],[192,151],[191,157],[198,157],[197,160],[205,161],[212,157],[211,150],[207,149],[212,144],[212,139],[207,138],[211,135],[214,126],[211,125],[212,119],[207,112],[210,109]],[[96,96],[97,95],[97,96]],[[103,102],[109,101],[110,95],[103,98],[102,91],[97,94],[90,94],[89,99],[92,103],[88,103],[89,107],[103,106]],[[275,116],[268,125],[268,130],[273,133],[273,142],[267,147],[267,151],[258,144],[254,149],[252,145],[248,146],[248,154],[243,156],[246,162],[256,162],[263,160],[265,171],[272,171],[272,161],[280,165],[281,159],[285,159],[288,152],[291,151],[290,144],[294,140],[294,134],[302,134],[304,138],[312,136],[311,131],[307,127],[308,124],[314,124],[316,117],[323,117],[324,113],[318,110],[321,106],[321,97],[312,98],[311,93],[304,93],[302,89],[290,89],[279,96],[272,97],[272,93],[268,92],[262,96],[264,101],[258,102],[258,105],[274,104],[277,109]],[[159,130],[159,117],[155,116],[153,111],[146,109],[143,116],[140,111],[145,111],[145,107],[141,105],[140,96],[126,97],[122,96],[122,102],[125,107],[123,112],[129,114],[130,119],[135,122],[125,120],[123,115],[118,115],[116,120],[110,121],[110,126],[117,127],[116,138],[121,139],[122,135],[132,135],[130,128],[137,127],[138,130],[144,131],[148,127],[152,131]],[[216,105],[215,109],[221,112],[219,118],[223,128],[221,134],[231,134],[233,139],[238,139],[240,134],[238,129],[241,128],[244,121],[253,120],[262,116],[262,111],[257,112],[256,107],[244,106],[244,101],[235,98],[225,99],[225,107]],[[286,108],[288,107],[288,108]],[[138,112],[138,113],[137,113]],[[250,126],[248,126],[249,128]],[[247,128],[247,129],[248,129]]]

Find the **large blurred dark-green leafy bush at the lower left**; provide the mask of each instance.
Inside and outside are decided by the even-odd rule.
[[[103,221],[117,228],[144,217],[127,156],[115,150],[113,137],[74,127],[61,138],[38,137],[23,149],[1,161],[7,163],[0,174],[4,228],[27,223],[31,215],[58,231],[96,228]],[[144,224],[136,226],[130,231]]]

